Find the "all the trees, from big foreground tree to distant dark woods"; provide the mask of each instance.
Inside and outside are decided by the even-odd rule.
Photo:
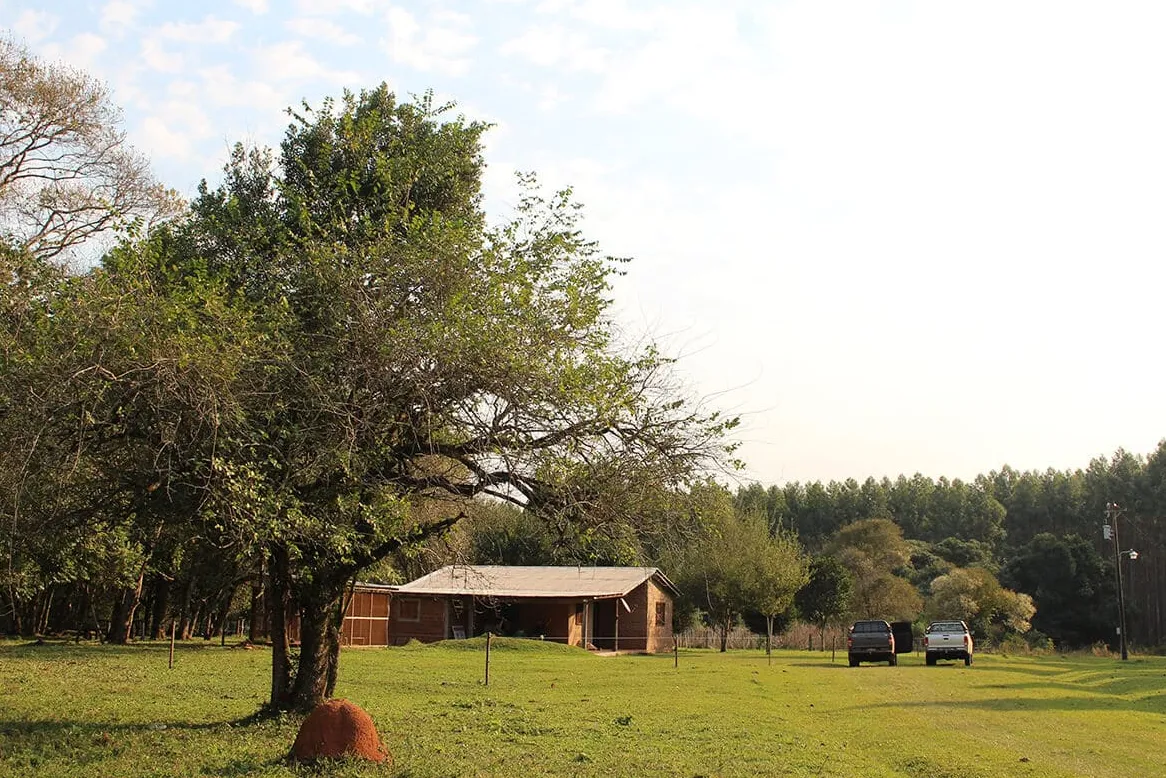
[[[454,106],[385,85],[304,105],[183,203],[100,83],[12,42],[0,69],[0,631],[245,624],[274,647],[271,705],[309,709],[352,582],[448,562],[656,565],[680,628],[958,611],[1076,649],[1114,642],[1121,560],[1130,637],[1163,644],[1166,442],[742,485],[737,419],[612,321],[624,260],[533,175],[491,223],[489,128]]]

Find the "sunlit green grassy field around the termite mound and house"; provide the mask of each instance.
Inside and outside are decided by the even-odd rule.
[[[266,650],[0,643],[0,776],[1158,776],[1166,659],[979,656],[847,667],[845,656],[595,657],[480,640],[350,650],[338,696],[392,769],[297,770],[294,719],[243,723]]]

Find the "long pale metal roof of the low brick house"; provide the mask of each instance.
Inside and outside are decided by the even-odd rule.
[[[478,597],[623,597],[648,579],[673,594],[675,584],[655,567],[510,567],[449,565],[398,587],[400,594]]]

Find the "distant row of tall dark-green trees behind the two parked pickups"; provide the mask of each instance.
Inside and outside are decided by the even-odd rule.
[[[737,506],[826,549],[845,527],[888,519],[912,546],[907,577],[923,594],[946,566],[974,567],[1033,597],[1033,626],[1056,644],[1112,644],[1117,624],[1115,548],[1103,537],[1105,506],[1121,506],[1128,629],[1146,646],[1164,642],[1166,602],[1166,441],[1147,456],[1118,450],[1075,470],[1003,467],[971,482],[922,475],[895,479],[750,484]],[[929,570],[929,572],[928,572]]]

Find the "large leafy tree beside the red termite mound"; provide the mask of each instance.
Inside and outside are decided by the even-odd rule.
[[[486,225],[484,131],[385,87],[304,107],[278,163],[238,149],[173,240],[136,248],[164,253],[153,275],[119,274],[196,313],[226,306],[230,342],[248,344],[189,398],[227,412],[188,414],[167,450],[205,488],[195,518],[266,560],[274,707],[331,694],[347,584],[443,533],[465,500],[634,527],[648,485],[677,489],[725,454],[735,422],[618,342],[618,262],[583,238],[569,194],[526,178],[513,217]],[[199,328],[187,337],[213,343]]]

